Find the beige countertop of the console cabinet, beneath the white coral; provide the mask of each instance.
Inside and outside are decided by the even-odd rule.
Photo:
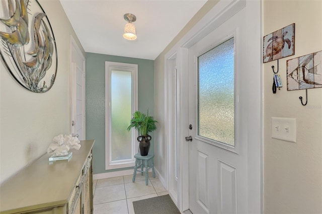
[[[5,181],[0,186],[0,213],[66,204],[94,141],[81,140],[79,150],[70,150],[72,158],[69,161],[50,164],[48,158],[51,155],[45,154]]]

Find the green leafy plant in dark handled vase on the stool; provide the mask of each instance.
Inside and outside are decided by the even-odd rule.
[[[130,120],[130,125],[127,127],[127,131],[130,131],[131,128],[139,130],[139,136],[136,138],[139,141],[139,149],[141,156],[147,156],[150,148],[150,139],[151,136],[148,135],[149,132],[156,129],[157,123],[152,116],[149,116],[149,111],[146,111],[146,114],[135,111],[133,117]]]

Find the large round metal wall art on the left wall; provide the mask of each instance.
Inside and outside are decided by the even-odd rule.
[[[47,92],[57,74],[57,49],[49,20],[36,0],[0,1],[0,55],[24,88]]]

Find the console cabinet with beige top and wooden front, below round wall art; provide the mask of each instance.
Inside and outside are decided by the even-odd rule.
[[[82,140],[69,161],[45,154],[0,186],[0,213],[93,214],[95,140]]]

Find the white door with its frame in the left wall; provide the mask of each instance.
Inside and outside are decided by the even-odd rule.
[[[76,42],[70,40],[71,55],[71,134],[85,140],[85,57]]]

